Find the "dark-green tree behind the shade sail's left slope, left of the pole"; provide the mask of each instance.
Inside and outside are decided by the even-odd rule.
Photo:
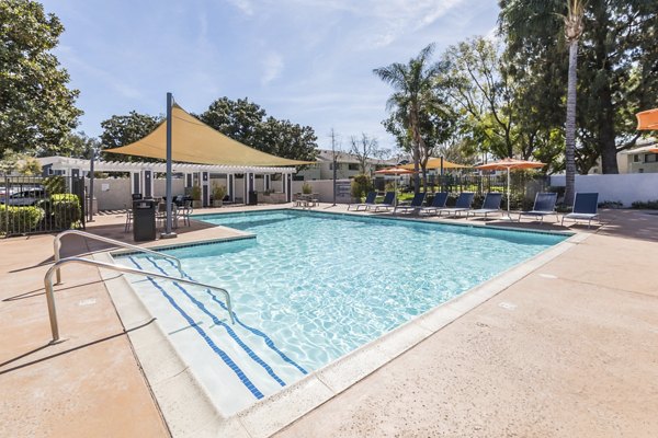
[[[126,146],[152,132],[162,122],[162,117],[155,117],[148,114],[139,114],[132,111],[126,116],[113,115],[106,120],[101,122],[103,134],[101,134],[102,149],[118,148]],[[105,152],[106,159],[111,161],[134,161],[131,155],[122,153]],[[155,161],[139,157],[139,161]]]

